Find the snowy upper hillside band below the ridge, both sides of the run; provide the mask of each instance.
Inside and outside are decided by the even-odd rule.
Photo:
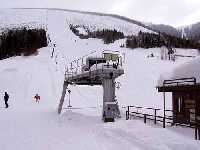
[[[0,10],[0,21],[2,24],[0,27],[16,26],[20,24],[46,24],[48,14],[59,14],[60,10],[45,10],[45,9],[2,9]],[[112,16],[94,15],[90,13],[81,13],[73,11],[62,11],[64,13],[65,21],[67,24],[85,26],[90,31],[97,31],[102,29],[116,29],[123,32],[125,35],[136,35],[139,31],[153,32],[142,26],[130,23],[125,20],[121,20]],[[25,15],[24,15],[25,14]],[[61,15],[62,16],[62,15]],[[58,16],[57,16],[58,17]],[[56,17],[56,18],[57,18]],[[55,20],[56,21],[56,20]],[[67,25],[66,24],[66,25]]]

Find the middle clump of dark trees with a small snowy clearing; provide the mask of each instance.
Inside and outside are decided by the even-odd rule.
[[[70,30],[81,39],[98,38],[102,39],[105,44],[109,44],[115,42],[116,40],[125,38],[124,33],[119,32],[115,29],[103,29],[91,32],[87,27],[81,26],[81,28],[84,29],[85,32],[87,32],[87,34],[81,34],[78,30],[79,27],[79,25],[70,24]]]

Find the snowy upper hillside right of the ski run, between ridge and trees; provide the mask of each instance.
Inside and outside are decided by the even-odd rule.
[[[53,13],[55,14],[55,11]],[[57,15],[60,15],[60,13],[63,14],[63,12],[57,11]],[[90,31],[116,29],[117,31],[123,32],[125,35],[137,35],[140,31],[153,33],[153,31],[142,26],[109,16],[95,17],[91,14],[81,14],[77,12],[65,12],[65,15],[68,24],[85,26]]]

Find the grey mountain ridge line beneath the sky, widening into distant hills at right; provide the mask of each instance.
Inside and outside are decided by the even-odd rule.
[[[135,20],[126,16],[121,16],[119,14],[112,14],[112,13],[101,13],[101,12],[92,12],[92,11],[81,11],[81,10],[71,10],[71,9],[63,9],[63,8],[11,8],[11,9],[43,9],[43,10],[57,10],[57,11],[67,11],[67,12],[75,12],[75,13],[81,13],[81,14],[90,14],[90,15],[98,15],[98,16],[108,16],[108,17],[113,17],[117,19],[121,19],[123,21],[127,21],[129,23],[136,24],[138,26],[144,27],[148,30],[152,30],[154,32],[161,32],[161,33],[166,33],[171,36],[176,36],[176,37],[184,37],[188,39],[193,39],[193,40],[200,40],[200,22],[191,24],[191,25],[186,25],[183,27],[173,27],[171,25],[167,24],[146,24],[142,21]],[[181,29],[181,30],[180,30]],[[185,32],[185,34],[183,34]],[[184,35],[184,36],[183,36]]]

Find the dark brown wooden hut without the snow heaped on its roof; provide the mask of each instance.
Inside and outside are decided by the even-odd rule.
[[[195,115],[196,119],[200,117],[200,84],[196,78],[164,80],[158,92],[164,96],[165,92],[172,93],[173,123],[195,125]]]

